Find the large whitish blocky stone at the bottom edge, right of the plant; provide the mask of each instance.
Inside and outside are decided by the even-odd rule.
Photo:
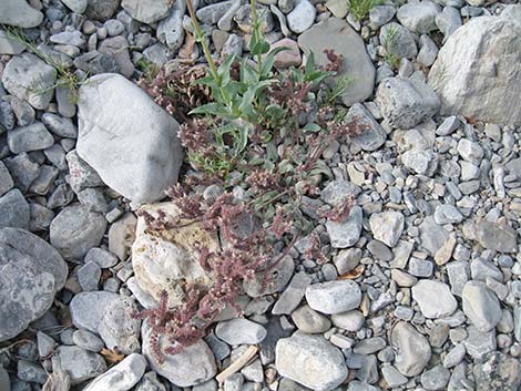
[[[275,367],[280,375],[316,391],[333,390],[347,375],[340,350],[320,336],[295,333],[280,339]]]

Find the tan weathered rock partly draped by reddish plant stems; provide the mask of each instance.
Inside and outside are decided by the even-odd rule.
[[[145,205],[143,209],[152,215],[156,215],[160,209],[172,217],[178,214],[173,203]],[[183,287],[187,284],[207,289],[211,277],[198,264],[196,245],[210,250],[215,250],[218,246],[216,238],[198,223],[151,233],[146,229],[144,218],[137,218],[132,266],[140,287],[157,300],[161,291],[166,290],[171,306],[176,306],[182,300]]]

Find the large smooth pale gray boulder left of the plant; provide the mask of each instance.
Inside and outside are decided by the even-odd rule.
[[[177,181],[178,124],[132,82],[115,74],[91,78],[80,89],[79,111],[78,153],[118,193],[136,203],[156,200]]]

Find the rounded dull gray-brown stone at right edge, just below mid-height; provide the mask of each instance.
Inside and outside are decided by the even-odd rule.
[[[508,225],[482,220],[476,225],[476,239],[481,246],[500,253],[518,250],[517,233]]]

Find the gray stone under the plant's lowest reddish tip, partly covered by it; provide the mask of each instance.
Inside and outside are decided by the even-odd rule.
[[[164,357],[163,362],[159,362],[153,353],[151,337],[152,330],[147,322],[142,327],[143,354],[146,357],[150,367],[170,380],[177,387],[192,387],[202,384],[212,379],[216,371],[215,358],[205,341],[200,340],[190,347],[184,348],[181,353]],[[159,337],[159,347],[164,349],[170,342],[164,337]]]

